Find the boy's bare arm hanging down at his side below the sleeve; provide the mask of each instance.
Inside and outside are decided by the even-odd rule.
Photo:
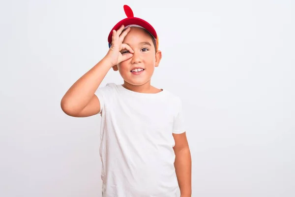
[[[175,146],[175,170],[177,181],[180,189],[180,197],[191,197],[191,155],[186,138],[186,133],[181,134],[173,133]]]

